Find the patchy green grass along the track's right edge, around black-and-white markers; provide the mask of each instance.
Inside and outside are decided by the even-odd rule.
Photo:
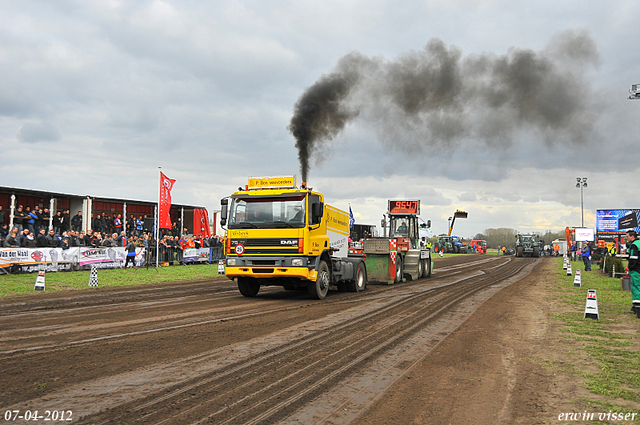
[[[605,276],[597,266],[591,272],[582,271],[582,286],[574,287],[575,271],[584,269],[582,262],[571,263],[574,276],[567,276],[562,269],[562,258],[556,262],[554,296],[568,308],[561,309],[555,318],[561,323],[561,338],[571,356],[554,367],[580,377],[593,394],[576,401],[578,404],[604,412],[635,412],[638,418],[640,319],[625,313],[631,307],[631,293],[622,291],[620,278]],[[584,318],[589,289],[597,293],[598,320]]]

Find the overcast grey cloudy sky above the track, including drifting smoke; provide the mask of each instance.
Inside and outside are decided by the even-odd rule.
[[[249,176],[301,175],[292,118],[311,102],[341,119],[310,118],[308,183],[357,222],[409,198],[436,233],[456,209],[465,237],[557,231],[581,224],[587,177],[594,226],[640,208],[638,16],[636,0],[0,0],[0,185],[154,200],[161,166],[175,202],[212,212]]]

